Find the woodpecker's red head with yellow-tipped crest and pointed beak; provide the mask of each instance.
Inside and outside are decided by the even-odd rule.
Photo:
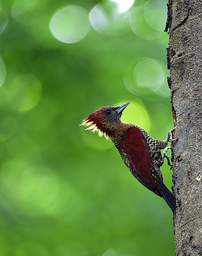
[[[87,118],[85,118],[81,125],[88,126],[87,129],[92,132],[98,132],[99,136],[105,135],[112,136],[113,132],[118,129],[120,124],[120,116],[124,109],[129,105],[130,102],[124,103],[119,107],[103,107],[92,112]]]

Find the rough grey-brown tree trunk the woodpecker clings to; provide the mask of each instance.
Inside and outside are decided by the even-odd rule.
[[[170,0],[168,67],[178,137],[173,143],[177,256],[202,255],[202,1]]]

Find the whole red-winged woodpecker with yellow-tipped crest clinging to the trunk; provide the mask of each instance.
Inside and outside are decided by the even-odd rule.
[[[164,198],[175,216],[175,196],[164,185],[160,170],[164,157],[171,165],[166,154],[170,147],[166,146],[168,141],[177,140],[172,138],[175,129],[168,132],[166,140],[155,140],[137,125],[122,122],[120,117],[129,103],[99,108],[84,118],[81,125],[110,139],[133,176],[155,195]],[[161,149],[164,149],[162,154]]]

